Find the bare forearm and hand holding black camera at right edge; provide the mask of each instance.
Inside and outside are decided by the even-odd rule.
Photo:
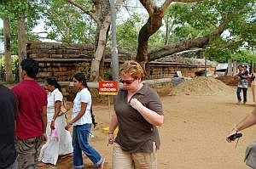
[[[232,142],[235,139],[232,138],[237,132],[240,132],[247,127],[251,127],[254,124],[256,124],[256,107],[252,111],[250,115],[247,115],[244,119],[242,119],[232,130],[231,132],[226,136],[227,142]]]

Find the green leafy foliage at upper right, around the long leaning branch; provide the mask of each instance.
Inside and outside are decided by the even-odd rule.
[[[253,60],[244,50],[255,47],[256,3],[253,0],[205,0],[200,3],[172,3],[166,16],[174,26],[170,42],[203,37],[222,25],[222,34],[211,38],[204,54],[207,58],[226,62],[233,58]],[[247,45],[244,45],[244,44]],[[241,48],[243,48],[241,50]],[[241,52],[242,51],[242,52]]]

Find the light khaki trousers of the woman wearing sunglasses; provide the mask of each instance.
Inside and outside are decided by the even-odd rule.
[[[157,169],[156,146],[152,153],[129,153],[113,144],[113,169]]]

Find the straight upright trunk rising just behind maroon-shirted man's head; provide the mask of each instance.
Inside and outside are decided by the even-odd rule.
[[[25,31],[25,15],[24,13],[19,14],[19,25],[18,25],[18,48],[19,48],[19,78],[21,80],[21,66],[20,62],[22,59],[26,59],[26,31]]]

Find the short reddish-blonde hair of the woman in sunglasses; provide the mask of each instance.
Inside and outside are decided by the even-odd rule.
[[[143,77],[145,76],[142,66],[134,60],[125,61],[125,63],[122,65],[120,69],[120,74],[129,74],[134,79],[141,78],[142,80]]]

